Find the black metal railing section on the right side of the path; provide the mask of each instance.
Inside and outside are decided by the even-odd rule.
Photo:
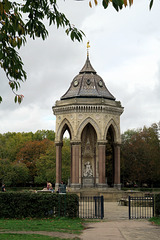
[[[129,219],[154,217],[154,196],[129,196]]]

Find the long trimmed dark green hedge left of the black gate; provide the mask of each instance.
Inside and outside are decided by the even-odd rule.
[[[76,194],[0,193],[0,218],[78,217]]]

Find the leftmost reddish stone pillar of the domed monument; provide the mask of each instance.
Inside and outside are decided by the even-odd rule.
[[[55,189],[58,190],[59,184],[62,180],[62,142],[56,142],[56,185]]]

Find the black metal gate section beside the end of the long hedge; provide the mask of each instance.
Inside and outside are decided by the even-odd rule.
[[[80,197],[79,198],[80,218],[104,218],[103,196]]]

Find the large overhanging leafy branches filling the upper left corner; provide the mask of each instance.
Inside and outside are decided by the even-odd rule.
[[[0,66],[5,71],[9,85],[15,93],[15,102],[21,103],[23,95],[16,94],[20,83],[27,78],[23,62],[17,49],[26,43],[26,37],[45,40],[49,25],[65,28],[72,41],[82,40],[84,33],[70,23],[65,14],[59,11],[57,0],[0,1]],[[0,102],[2,97],[0,97]]]

